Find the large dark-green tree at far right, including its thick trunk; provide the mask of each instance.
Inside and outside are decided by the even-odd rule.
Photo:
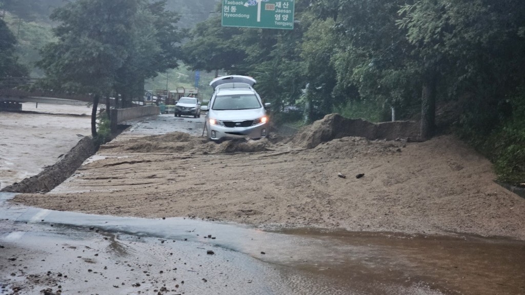
[[[472,123],[492,129],[498,105],[524,81],[522,2],[419,0],[400,13],[398,25],[407,29],[424,78],[423,137],[432,135],[438,83],[446,91],[442,96],[473,98],[466,106],[484,109]]]

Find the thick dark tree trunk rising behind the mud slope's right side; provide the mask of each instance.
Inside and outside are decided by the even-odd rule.
[[[436,78],[429,75],[423,82],[421,95],[421,138],[432,138],[436,123]]]

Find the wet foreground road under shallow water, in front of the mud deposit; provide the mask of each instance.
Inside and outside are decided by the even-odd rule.
[[[8,240],[0,231],[0,243],[14,245],[18,239],[23,243],[17,247],[55,256],[65,251],[61,247],[75,252],[46,264],[52,272],[67,266],[70,278],[80,283],[62,285],[75,293],[91,288],[93,280],[83,282],[81,277],[95,271],[101,277],[97,286],[109,286],[114,294],[151,292],[163,285],[169,286],[163,294],[525,293],[524,241],[313,229],[268,232],[184,218],[22,210],[8,204],[0,208],[22,227],[17,232],[26,233]],[[79,268],[90,263],[78,258],[85,256],[80,250],[95,262],[89,273]],[[100,255],[93,256],[95,252]],[[45,269],[36,256],[31,263]],[[131,286],[136,283],[141,287]]]

